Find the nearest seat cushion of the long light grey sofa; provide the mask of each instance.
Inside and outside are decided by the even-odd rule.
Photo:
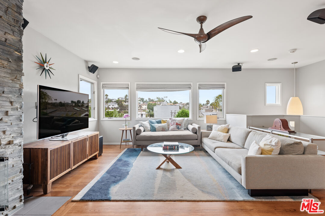
[[[248,154],[247,149],[217,148],[214,153],[241,175],[241,156]]]

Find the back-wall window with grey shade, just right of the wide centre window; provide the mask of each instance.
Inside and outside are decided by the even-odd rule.
[[[197,120],[203,120],[206,115],[217,115],[225,119],[226,83],[198,83]]]

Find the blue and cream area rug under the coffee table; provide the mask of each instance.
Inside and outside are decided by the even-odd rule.
[[[309,197],[250,197],[205,151],[172,155],[182,169],[144,149],[125,149],[73,201],[301,201]]]

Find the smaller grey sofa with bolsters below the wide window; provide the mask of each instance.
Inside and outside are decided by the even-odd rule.
[[[133,145],[144,146],[157,142],[183,142],[190,145],[201,145],[201,126],[188,124],[188,130],[184,131],[156,131],[145,132],[140,124],[133,126]],[[193,131],[193,132],[192,132]]]

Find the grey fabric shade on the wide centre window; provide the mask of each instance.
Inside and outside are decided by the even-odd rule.
[[[136,91],[140,92],[174,92],[192,89],[191,83],[137,83]]]

